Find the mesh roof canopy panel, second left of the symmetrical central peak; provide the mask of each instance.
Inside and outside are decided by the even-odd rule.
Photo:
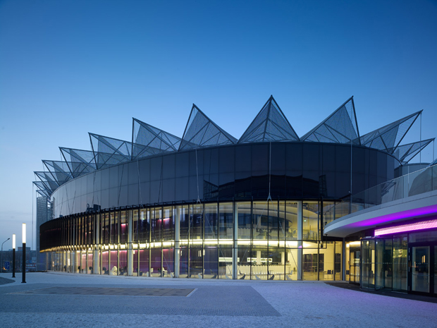
[[[133,159],[161,152],[174,152],[179,146],[180,138],[176,135],[133,119]]]

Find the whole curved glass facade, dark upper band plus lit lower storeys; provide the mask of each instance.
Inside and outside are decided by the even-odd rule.
[[[351,154],[352,152],[352,154]],[[352,163],[351,163],[352,159]],[[159,154],[74,178],[40,228],[51,269],[209,279],[342,279],[321,233],[342,202],[393,178],[357,145],[263,142]],[[340,202],[342,206],[335,206]]]

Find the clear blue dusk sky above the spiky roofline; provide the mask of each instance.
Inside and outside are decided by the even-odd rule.
[[[431,0],[0,1],[0,243],[25,222],[35,248],[42,159],[88,132],[131,140],[132,117],[182,137],[195,103],[240,138],[273,95],[302,136],[353,95],[361,135],[424,109],[436,137],[436,17]]]

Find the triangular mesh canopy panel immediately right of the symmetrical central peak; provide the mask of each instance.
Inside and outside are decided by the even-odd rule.
[[[302,141],[350,143],[359,145],[359,131],[353,97],[318,126],[306,133]]]

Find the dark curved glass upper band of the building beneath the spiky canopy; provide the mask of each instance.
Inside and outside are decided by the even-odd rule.
[[[352,150],[352,165],[351,152]],[[202,200],[339,200],[394,178],[391,155],[367,147],[264,142],[209,147],[118,164],[57,188],[54,217],[101,209]],[[352,169],[352,190],[350,178]]]

